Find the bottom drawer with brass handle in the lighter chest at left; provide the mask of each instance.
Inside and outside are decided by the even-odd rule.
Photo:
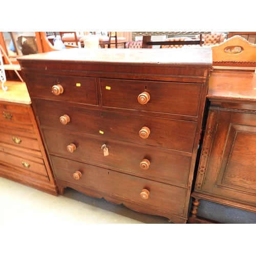
[[[1,147],[0,159],[2,163],[12,165],[14,168],[16,167],[32,173],[47,176],[45,163],[41,158],[29,156],[7,147]]]

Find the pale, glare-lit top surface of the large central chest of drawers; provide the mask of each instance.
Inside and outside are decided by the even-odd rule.
[[[105,62],[105,63],[200,63],[211,65],[211,50],[198,49],[69,49],[42,54],[26,55],[20,60],[57,60],[79,62]]]

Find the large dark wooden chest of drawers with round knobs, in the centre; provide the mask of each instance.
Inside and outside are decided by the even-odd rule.
[[[210,49],[72,49],[19,62],[61,193],[186,223]]]

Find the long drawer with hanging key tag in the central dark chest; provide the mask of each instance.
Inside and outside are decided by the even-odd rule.
[[[187,185],[190,157],[129,142],[44,130],[50,154]],[[104,146],[109,154],[104,156]],[[103,146],[103,148],[102,148]],[[182,164],[181,164],[182,163]]]

